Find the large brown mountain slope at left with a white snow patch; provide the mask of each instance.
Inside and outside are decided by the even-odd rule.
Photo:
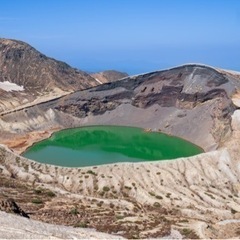
[[[49,58],[27,43],[0,39],[0,112],[98,84],[87,73]]]

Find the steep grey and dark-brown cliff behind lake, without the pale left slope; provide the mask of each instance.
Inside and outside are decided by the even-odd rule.
[[[91,124],[96,116],[96,123],[160,130],[209,150],[230,135],[231,96],[238,88],[213,68],[188,65],[77,92],[53,108]]]

